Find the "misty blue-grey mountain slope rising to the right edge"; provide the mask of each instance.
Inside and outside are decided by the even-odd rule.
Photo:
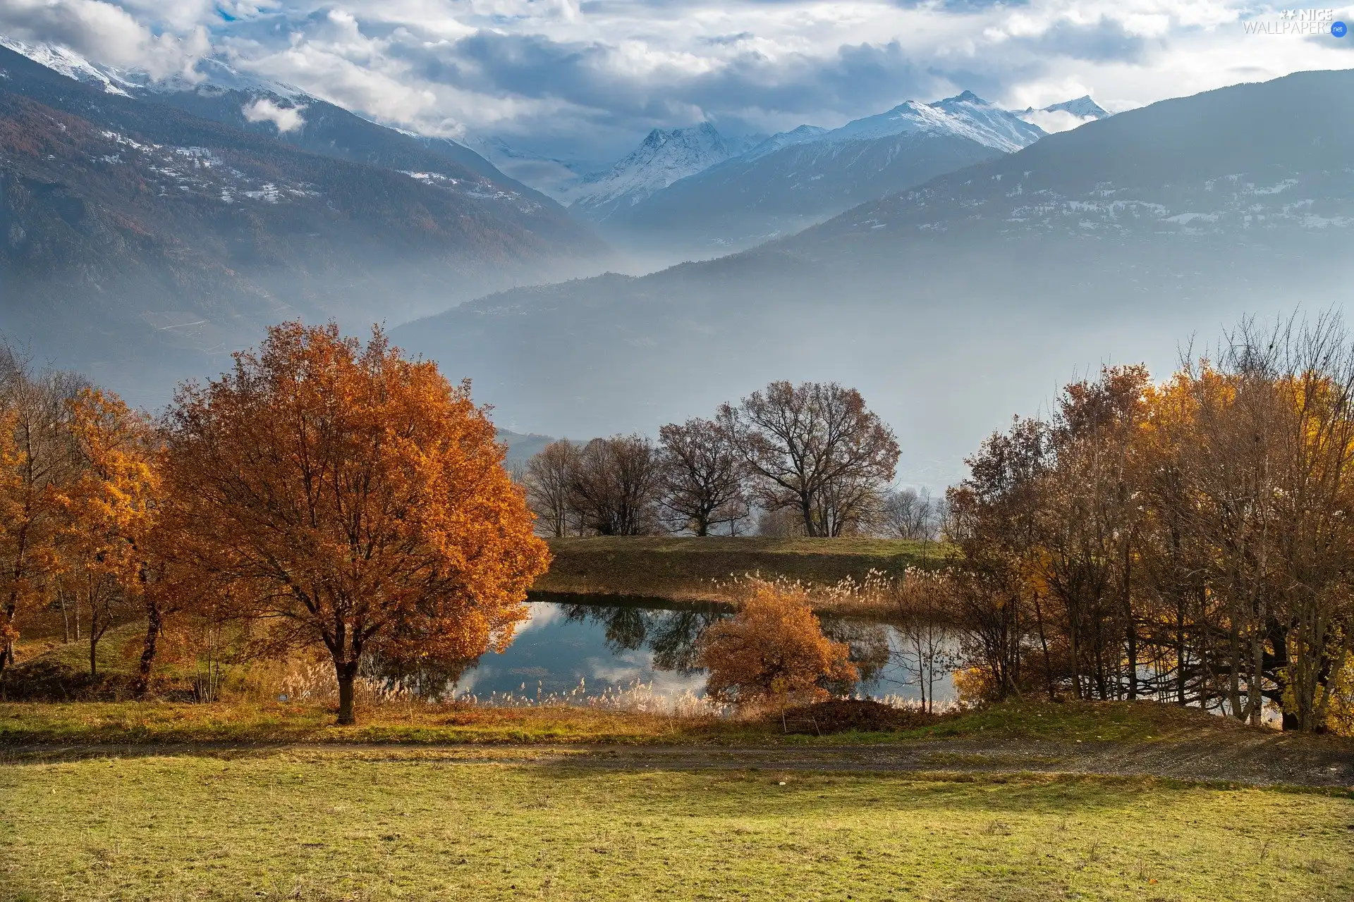
[[[1240,315],[1346,303],[1351,112],[1354,72],[1162,101],[753,250],[510,291],[395,337],[551,434],[835,379],[898,429],[904,477],[938,485],[1085,368],[1164,373]]]

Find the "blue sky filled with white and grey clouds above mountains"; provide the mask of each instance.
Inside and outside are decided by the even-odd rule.
[[[655,127],[835,127],[969,89],[1112,111],[1354,66],[1354,35],[1232,0],[0,0],[0,34],[192,77],[204,55],[425,134],[566,160]],[[1317,14],[1324,19],[1327,14]],[[1354,24],[1354,5],[1335,7]],[[1290,27],[1292,30],[1292,27]]]

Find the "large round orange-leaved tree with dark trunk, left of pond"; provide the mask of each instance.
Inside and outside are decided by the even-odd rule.
[[[548,552],[468,383],[379,329],[283,323],[168,417],[176,565],[274,648],[321,646],[352,723],[363,657],[504,648]]]

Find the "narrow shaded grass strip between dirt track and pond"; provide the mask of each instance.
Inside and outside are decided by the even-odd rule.
[[[784,736],[779,721],[666,717],[585,707],[359,710],[356,726],[334,726],[320,706],[236,702],[0,703],[0,745],[18,742],[603,742],[674,745],[841,745],[953,737],[1152,741],[1209,736],[1246,741],[1233,721],[1150,702],[1007,703],[890,733]]]

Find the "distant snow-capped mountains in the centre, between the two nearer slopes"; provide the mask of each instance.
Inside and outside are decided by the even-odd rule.
[[[1108,116],[1089,96],[1007,111],[972,92],[907,101],[838,128],[803,124],[766,135],[720,134],[708,122],[655,128],[621,160],[585,165],[471,142],[615,245],[647,261],[708,258],[793,234],[867,200],[997,154],[1047,131]]]

